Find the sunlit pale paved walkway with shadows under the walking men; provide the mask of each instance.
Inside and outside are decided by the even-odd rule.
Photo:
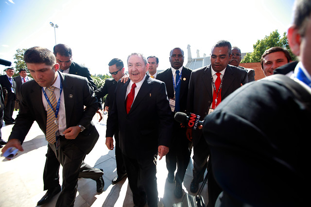
[[[17,111],[14,111],[14,116]],[[96,182],[91,179],[79,178],[78,192],[75,207],[133,207],[132,192],[128,186],[127,178],[116,185],[111,180],[117,175],[115,152],[107,149],[105,145],[106,119],[100,123],[97,115],[93,122],[100,134],[100,138],[93,150],[86,156],[86,163],[97,168],[104,169],[104,191],[96,191]],[[1,129],[2,139],[7,140],[13,125]],[[43,168],[47,141],[36,123],[30,129],[23,143],[24,152],[19,152],[12,160],[0,157],[0,207],[35,207],[37,201],[45,194],[43,191]],[[192,158],[192,155],[191,155]],[[190,192],[192,180],[192,159],[185,175],[183,190]],[[62,169],[60,169],[60,182],[62,182]],[[160,202],[159,207],[172,207],[181,199],[174,196],[174,185],[166,180],[168,171],[165,158],[157,162],[157,186]],[[207,204],[207,185],[203,190],[205,203]],[[52,201],[42,207],[54,207],[58,195]],[[147,205],[146,205],[147,206]]]

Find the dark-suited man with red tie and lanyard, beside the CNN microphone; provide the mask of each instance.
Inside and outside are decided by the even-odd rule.
[[[221,40],[211,50],[211,64],[193,70],[191,73],[187,111],[200,115],[200,120],[211,113],[226,96],[248,82],[246,70],[228,65],[230,58],[231,44]],[[218,77],[220,80],[217,80]],[[218,87],[217,81],[219,81]],[[203,181],[209,150],[202,130],[188,128],[187,136],[193,142],[193,180],[190,191],[196,192],[198,183]],[[208,169],[208,173],[209,171]],[[212,178],[208,178],[208,180],[209,188],[212,187]],[[213,200],[212,192],[208,191],[208,193],[209,202],[211,202]],[[216,192],[216,194],[217,198],[218,193]]]

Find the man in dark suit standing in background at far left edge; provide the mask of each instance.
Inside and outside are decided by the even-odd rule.
[[[0,76],[0,84],[3,90],[4,97],[4,115],[3,120],[5,125],[15,124],[15,120],[12,118],[15,99],[16,99],[16,82],[12,78],[14,75],[14,68],[6,68],[6,75]]]

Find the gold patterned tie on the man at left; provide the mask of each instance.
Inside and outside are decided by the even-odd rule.
[[[49,86],[47,88],[50,91],[49,100],[53,109],[51,109],[50,105],[48,106],[48,115],[47,115],[47,131],[46,131],[46,139],[49,143],[53,144],[56,142],[56,131],[58,130],[58,125],[55,123],[55,110],[56,110],[56,96],[54,94],[55,87]]]

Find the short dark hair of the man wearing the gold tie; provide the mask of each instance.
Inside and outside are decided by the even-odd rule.
[[[56,64],[56,58],[54,54],[47,48],[34,47],[29,48],[24,53],[25,63],[40,64],[44,63],[46,65],[54,66]]]

